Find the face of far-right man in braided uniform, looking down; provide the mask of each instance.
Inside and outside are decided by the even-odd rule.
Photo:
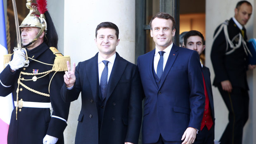
[[[251,5],[243,3],[238,9],[235,9],[235,19],[244,26],[249,21],[252,13]]]

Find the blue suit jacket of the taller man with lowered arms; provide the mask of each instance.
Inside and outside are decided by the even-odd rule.
[[[181,142],[187,127],[200,130],[204,113],[204,85],[199,55],[173,44],[161,83],[154,79],[155,50],[137,59],[145,93],[142,141],[155,143],[162,137]]]

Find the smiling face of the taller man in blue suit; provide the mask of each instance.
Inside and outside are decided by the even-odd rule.
[[[151,23],[150,35],[153,37],[156,47],[164,50],[171,45],[175,29],[172,30],[173,22],[171,19],[160,19],[156,17]]]

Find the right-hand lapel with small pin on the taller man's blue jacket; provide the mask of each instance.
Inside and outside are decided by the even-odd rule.
[[[171,48],[171,52],[169,54],[168,60],[166,62],[165,68],[164,68],[164,72],[162,74],[161,84],[159,85],[159,89],[162,87],[162,85],[166,79],[166,76],[169,73],[169,71],[171,70],[171,67],[173,66],[173,63],[177,56],[178,56],[178,47],[173,44],[173,47]]]

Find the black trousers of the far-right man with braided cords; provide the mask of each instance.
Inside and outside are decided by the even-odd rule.
[[[243,127],[249,116],[249,94],[247,90],[233,87],[232,92],[218,87],[228,108],[229,123],[220,138],[221,144],[242,144]]]

